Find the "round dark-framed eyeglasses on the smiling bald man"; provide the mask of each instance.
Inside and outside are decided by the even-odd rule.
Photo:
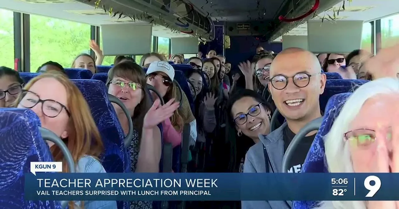
[[[270,79],[270,82],[272,83],[272,86],[277,89],[277,90],[282,90],[284,89],[287,84],[288,84],[288,78],[292,78],[292,81],[294,82],[295,86],[298,86],[299,88],[303,88],[308,86],[310,82],[310,77],[320,74],[321,72],[315,73],[315,74],[307,74],[306,72],[298,72],[292,77],[284,76],[284,75],[276,75],[273,78]]]

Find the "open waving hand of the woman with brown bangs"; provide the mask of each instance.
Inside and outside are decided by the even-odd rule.
[[[179,108],[179,102],[174,102],[174,98],[166,104],[160,105],[160,100],[155,100],[151,108],[144,116],[143,128],[152,129],[162,121],[171,117],[176,109]]]

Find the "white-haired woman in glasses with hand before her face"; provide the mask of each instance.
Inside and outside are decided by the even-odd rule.
[[[348,98],[324,146],[331,173],[399,172],[399,81],[380,78]],[[360,107],[360,108],[359,108]],[[323,201],[320,209],[396,209],[395,201]]]

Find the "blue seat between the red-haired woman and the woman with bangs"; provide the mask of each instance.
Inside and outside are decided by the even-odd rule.
[[[124,133],[105,84],[99,80],[72,80],[89,104],[91,115],[100,131],[104,152],[100,160],[108,173],[129,173],[130,156],[124,148]],[[118,209],[127,209],[128,201],[117,201]]]

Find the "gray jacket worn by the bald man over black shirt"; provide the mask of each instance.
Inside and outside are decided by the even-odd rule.
[[[244,173],[265,173],[266,163],[263,145],[267,150],[271,166],[275,172],[281,172],[282,157],[284,155],[284,128],[287,123],[269,135],[259,135],[261,142],[251,146],[245,155]],[[269,172],[272,167],[269,165]],[[273,189],[273,188],[269,188]],[[241,209],[290,209],[291,201],[241,201]]]

